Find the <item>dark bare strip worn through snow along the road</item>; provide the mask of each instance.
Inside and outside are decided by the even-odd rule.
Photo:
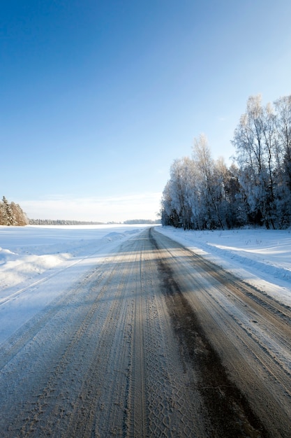
[[[158,245],[151,235],[154,246]],[[198,372],[198,389],[209,411],[215,437],[270,437],[246,397],[230,381],[218,353],[209,343],[195,312],[174,281],[174,273],[158,260],[167,309],[181,345],[182,360]]]

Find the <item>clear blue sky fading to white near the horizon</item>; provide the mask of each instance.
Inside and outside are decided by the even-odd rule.
[[[156,218],[175,158],[228,162],[251,94],[291,94],[290,0],[0,4],[0,195],[29,218]]]

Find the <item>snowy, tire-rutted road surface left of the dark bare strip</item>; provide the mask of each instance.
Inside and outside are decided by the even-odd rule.
[[[172,325],[164,257],[143,231],[10,339],[6,438],[223,436],[202,397],[203,369],[178,334],[186,311]]]

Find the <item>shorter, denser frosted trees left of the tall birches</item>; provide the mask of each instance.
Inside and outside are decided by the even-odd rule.
[[[206,137],[200,136],[193,158],[174,160],[171,166],[161,202],[162,224],[184,229],[240,225],[243,215],[239,217],[240,201],[235,198],[238,185],[237,176],[222,158],[212,159]]]

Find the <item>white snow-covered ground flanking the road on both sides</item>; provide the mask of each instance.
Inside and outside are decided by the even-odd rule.
[[[0,343],[149,225],[0,227]],[[159,232],[291,306],[291,230]]]

